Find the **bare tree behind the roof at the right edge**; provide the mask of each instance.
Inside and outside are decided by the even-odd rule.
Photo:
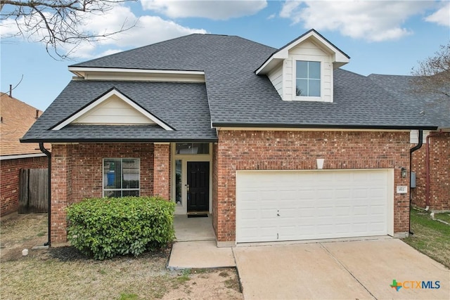
[[[450,43],[440,46],[434,56],[413,68],[413,84],[417,92],[440,93],[450,97]]]

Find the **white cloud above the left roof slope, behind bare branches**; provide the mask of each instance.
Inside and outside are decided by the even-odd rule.
[[[23,19],[19,20],[23,22]],[[125,22],[125,24],[124,24]],[[100,39],[99,41],[82,41],[71,53],[72,58],[94,58],[122,51],[124,48],[145,46],[158,41],[173,39],[187,34],[207,33],[203,29],[184,27],[171,20],[163,20],[158,16],[143,15],[138,18],[127,6],[115,6],[103,15],[90,15],[89,21],[82,25],[82,29],[94,34],[105,32],[117,32],[124,27],[136,24],[131,29],[115,34],[113,37]],[[0,23],[2,37],[17,32],[14,20],[4,20]],[[25,37],[32,41],[42,39],[44,31],[36,32],[31,37]],[[73,45],[62,44],[59,50],[71,51]]]

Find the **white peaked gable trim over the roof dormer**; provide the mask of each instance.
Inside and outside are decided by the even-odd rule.
[[[256,70],[256,74],[267,74],[267,72],[269,72],[272,67],[278,65],[278,63],[280,63],[282,60],[285,60],[289,57],[290,49],[294,48],[298,44],[301,44],[307,39],[312,39],[316,44],[320,45],[321,48],[329,53],[332,53],[333,59],[331,63],[336,63],[337,67],[349,63],[349,57],[345,53],[336,48],[333,44],[323,38],[316,31],[310,30],[309,32],[307,32],[307,34],[302,35],[295,41],[292,41],[290,44],[287,44],[286,46],[282,47],[274,54],[272,54],[271,57],[266,60],[266,62],[261,67],[259,67],[258,70]]]

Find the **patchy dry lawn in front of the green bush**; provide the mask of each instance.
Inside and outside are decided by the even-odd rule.
[[[167,270],[170,248],[95,261],[46,241],[46,214],[0,226],[0,299],[243,299],[234,268]],[[24,248],[30,249],[22,256]]]

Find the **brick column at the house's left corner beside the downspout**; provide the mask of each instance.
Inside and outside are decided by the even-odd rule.
[[[70,145],[51,145],[51,243],[67,242],[65,209],[70,203]]]

